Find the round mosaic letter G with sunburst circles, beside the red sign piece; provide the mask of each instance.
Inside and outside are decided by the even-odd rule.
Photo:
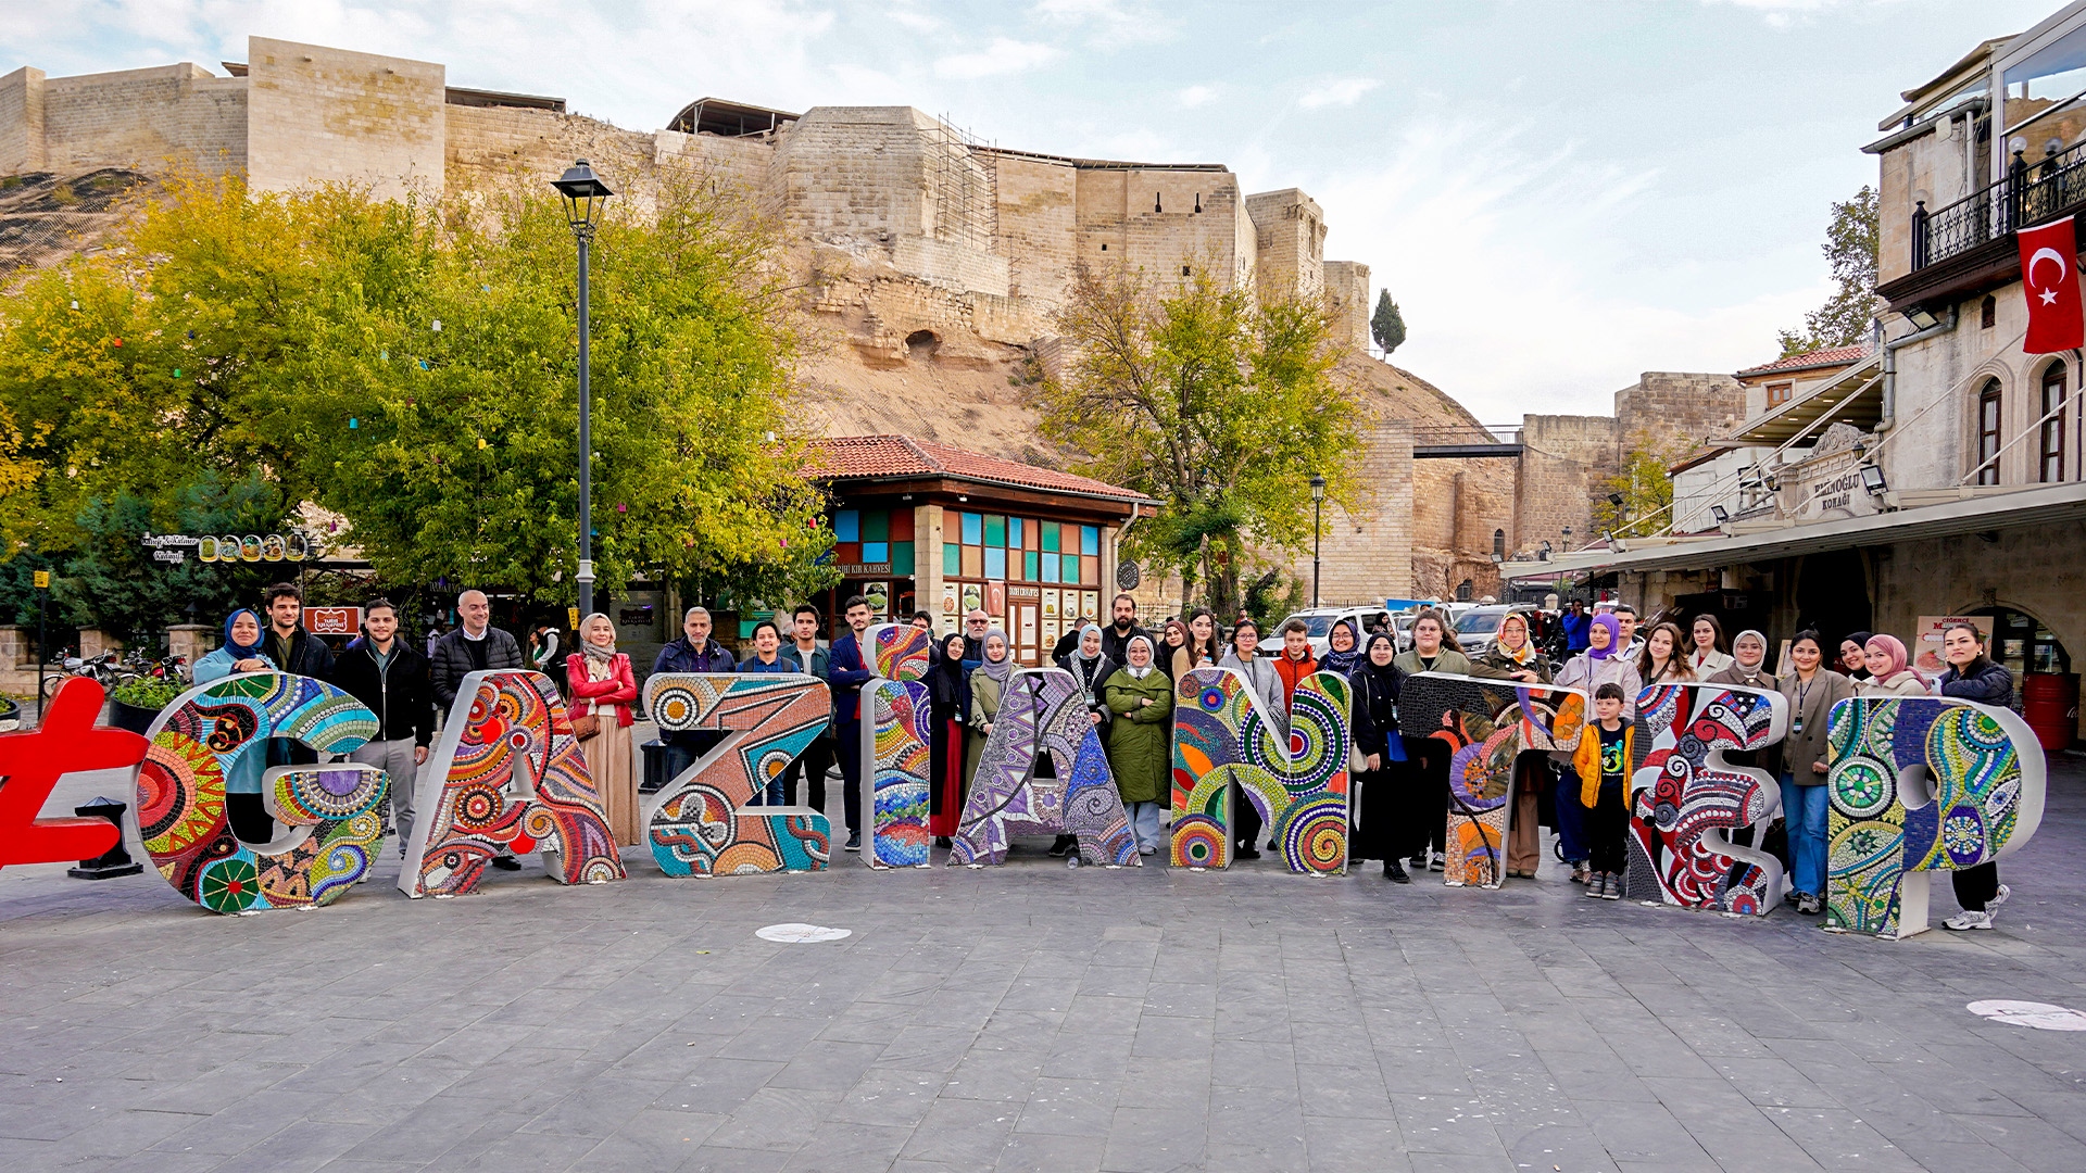
[[[271,737],[321,753],[359,749],[378,718],[340,689],[286,672],[196,685],[161,710],[138,768],[138,837],[175,891],[211,912],[332,904],[369,872],[388,779],[369,766],[290,766],[263,793],[290,833],[242,843],[225,818],[225,776]],[[273,799],[273,801],[269,801]]]

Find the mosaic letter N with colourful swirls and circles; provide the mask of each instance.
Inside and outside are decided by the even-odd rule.
[[[1297,680],[1289,735],[1245,676],[1193,668],[1174,683],[1172,864],[1231,864],[1231,783],[1237,783],[1293,872],[1348,868],[1350,685],[1333,672]]]

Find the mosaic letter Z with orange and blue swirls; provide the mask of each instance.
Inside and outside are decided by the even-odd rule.
[[[753,795],[832,722],[832,691],[805,674],[659,672],[645,712],[663,733],[726,731],[709,753],[647,804],[653,860],[670,877],[816,872],[832,827],[807,806],[753,806]]]

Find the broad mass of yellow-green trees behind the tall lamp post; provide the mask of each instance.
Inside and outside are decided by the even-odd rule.
[[[386,582],[572,593],[572,232],[530,188],[453,205],[177,179],[117,244],[0,307],[0,440],[35,465],[15,549],[73,549],[88,501],[165,513],[263,478],[348,522]],[[77,305],[77,309],[75,309]],[[791,420],[780,244],[668,186],[595,242],[599,580],[811,574],[830,547]],[[0,451],[0,457],[6,457]],[[4,474],[4,468],[0,468]],[[13,495],[10,495],[13,497]],[[778,570],[780,568],[780,570]]]

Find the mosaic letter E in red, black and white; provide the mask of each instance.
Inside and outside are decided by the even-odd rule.
[[[1781,904],[1781,862],[1729,839],[1752,827],[1758,843],[1781,812],[1781,787],[1767,770],[1723,756],[1773,745],[1788,728],[1790,701],[1765,689],[1652,685],[1638,693],[1625,879],[1631,900],[1746,916]]]

